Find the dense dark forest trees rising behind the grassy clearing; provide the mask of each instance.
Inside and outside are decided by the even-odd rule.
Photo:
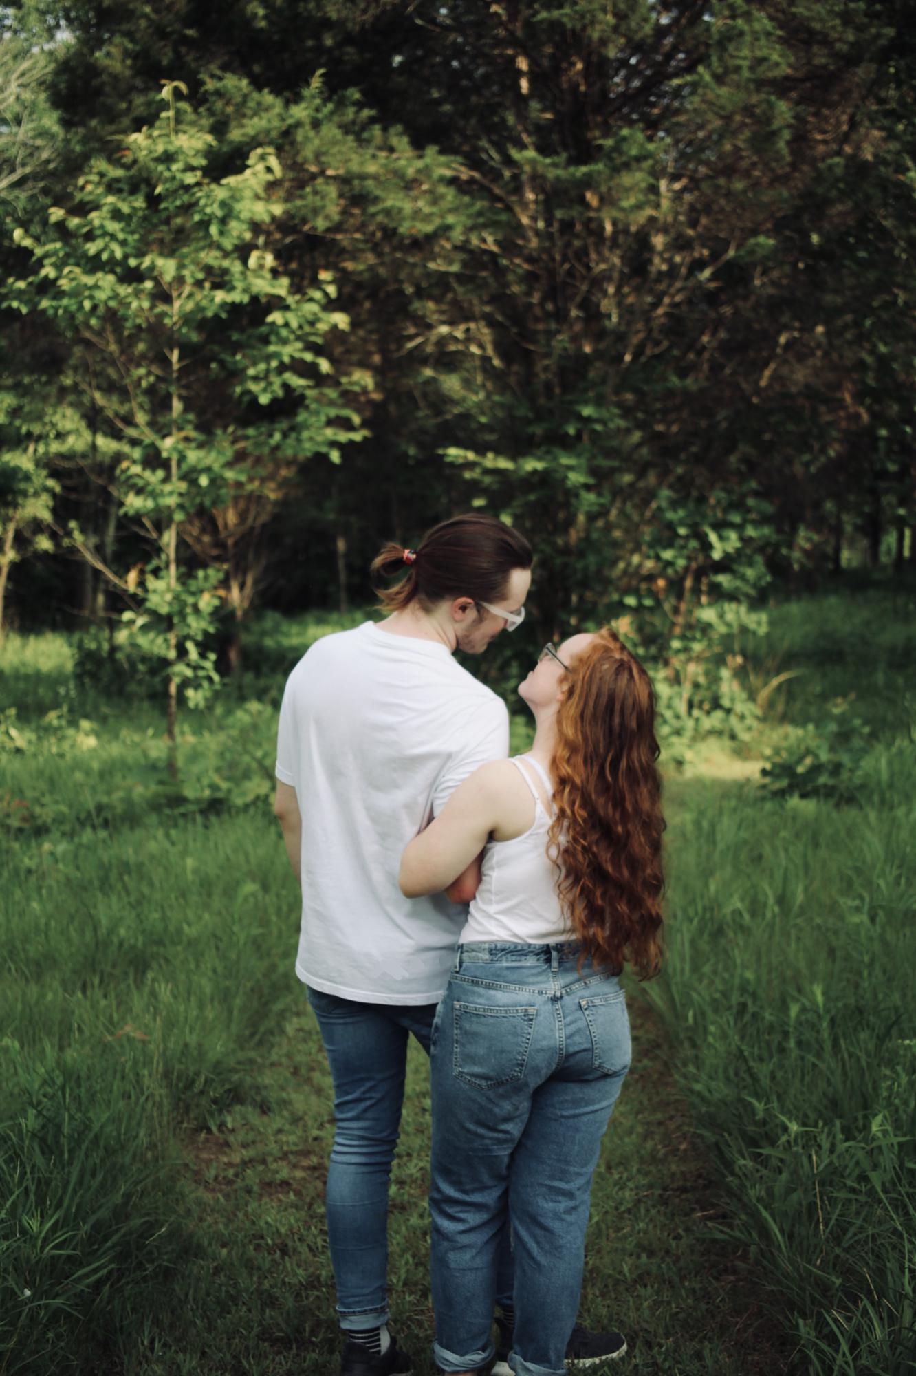
[[[899,0],[0,14],[1,623],[226,667],[469,508],[549,630],[916,560]]]

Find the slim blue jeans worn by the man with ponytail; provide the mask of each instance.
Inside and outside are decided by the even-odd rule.
[[[342,1329],[388,1322],[388,1185],[404,1102],[410,1035],[429,1051],[436,1004],[356,1003],[308,989],[334,1082],[327,1238]],[[498,1298],[512,1300],[509,1236]],[[492,1310],[490,1313],[492,1320]]]

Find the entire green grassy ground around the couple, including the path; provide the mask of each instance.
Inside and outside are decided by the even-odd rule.
[[[640,1376],[916,1369],[908,616],[886,593],[785,604],[751,658],[809,676],[769,695],[773,738],[855,692],[851,805],[668,780],[670,959],[633,991],[582,1303]],[[177,787],[138,685],[76,682],[61,636],[0,651],[1,1376],[336,1361],[330,1086],[268,798],[285,673],[340,623],[254,627],[242,682],[182,717]],[[428,1127],[417,1050],[392,1291],[419,1372]]]

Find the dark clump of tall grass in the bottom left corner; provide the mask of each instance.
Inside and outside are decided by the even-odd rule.
[[[154,1082],[114,1044],[0,1055],[0,1370],[103,1370],[166,1321],[195,1243]],[[150,1098],[157,1102],[150,1105]]]

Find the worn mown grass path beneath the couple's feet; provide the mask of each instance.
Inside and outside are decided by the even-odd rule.
[[[690,1132],[663,1038],[638,993],[630,1002],[633,1071],[596,1174],[580,1317],[627,1335],[615,1370],[640,1376],[778,1376],[774,1342],[745,1258],[714,1237],[723,1216]],[[426,1061],[413,1049],[392,1181],[393,1325],[428,1358]],[[232,1110],[187,1143],[202,1241],[190,1296],[194,1337],[144,1370],[161,1376],[257,1372],[327,1376],[338,1339],[322,1190],[331,1139],[330,1082],[311,1014],[292,1020],[261,1079],[263,1102]]]

